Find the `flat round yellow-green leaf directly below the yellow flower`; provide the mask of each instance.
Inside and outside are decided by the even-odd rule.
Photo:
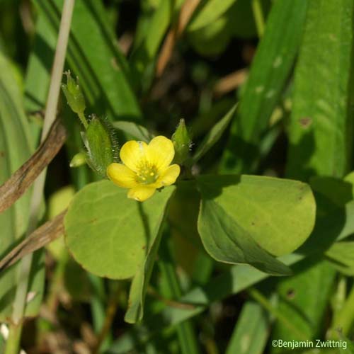
[[[110,181],[86,185],[75,195],[64,220],[72,256],[101,277],[131,278],[159,232],[173,190],[164,188],[140,203]]]

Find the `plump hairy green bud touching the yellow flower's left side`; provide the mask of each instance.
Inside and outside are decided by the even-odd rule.
[[[93,116],[84,134],[87,149],[87,164],[106,178],[106,170],[112,162],[118,161],[118,142],[113,127],[106,120]]]

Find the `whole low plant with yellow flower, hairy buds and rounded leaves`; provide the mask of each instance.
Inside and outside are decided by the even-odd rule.
[[[193,165],[222,137],[236,107],[210,130],[194,154],[184,120],[171,139],[127,122],[130,130],[124,131],[135,139],[119,147],[110,123],[96,115],[86,118],[79,81],[69,72],[62,89],[84,126],[86,152],[74,156],[71,166],[86,163],[103,178],[74,196],[64,219],[65,243],[90,273],[132,278],[125,321],[142,320],[169,207],[179,203],[181,219],[173,222],[183,227],[183,214],[192,212],[188,196],[200,199],[195,222],[210,257],[248,264],[270,275],[292,274],[278,257],[297,249],[312,232],[316,205],[309,185],[265,176],[193,172]]]

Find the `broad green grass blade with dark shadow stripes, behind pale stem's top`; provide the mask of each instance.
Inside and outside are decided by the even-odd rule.
[[[35,0],[34,3],[57,33],[62,0]],[[113,31],[107,23],[101,2],[76,1],[67,61],[79,76],[96,114],[108,115],[112,120],[123,117],[139,120],[141,113],[130,87],[130,69],[114,44]]]

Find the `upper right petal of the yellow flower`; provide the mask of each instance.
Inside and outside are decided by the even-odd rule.
[[[166,137],[154,137],[147,147],[147,157],[158,171],[164,171],[171,164],[175,156],[173,142]]]

